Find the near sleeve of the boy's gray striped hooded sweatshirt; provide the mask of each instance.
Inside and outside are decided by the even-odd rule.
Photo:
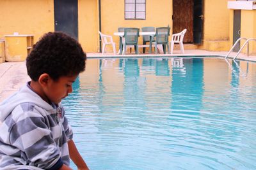
[[[38,113],[22,113],[12,126],[9,140],[11,145],[24,153],[21,156],[27,164],[51,169],[60,161],[60,149],[52,138],[51,129],[45,124],[44,117]]]

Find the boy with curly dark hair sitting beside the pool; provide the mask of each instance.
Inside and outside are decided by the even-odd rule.
[[[72,141],[61,100],[84,71],[81,45],[62,32],[49,32],[26,59],[31,78],[0,105],[0,169],[88,169]]]

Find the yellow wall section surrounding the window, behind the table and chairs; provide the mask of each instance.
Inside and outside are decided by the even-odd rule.
[[[101,1],[102,33],[113,37],[116,49],[118,49],[119,38],[113,33],[117,32],[118,27],[166,27],[169,24],[172,32],[172,1],[161,0],[161,3],[157,0],[147,1],[145,20],[125,20],[124,6],[124,1],[120,0]],[[142,36],[139,38],[139,43],[142,44]],[[112,48],[107,48],[107,51],[111,52]]]

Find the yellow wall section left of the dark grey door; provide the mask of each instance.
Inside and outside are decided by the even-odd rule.
[[[52,0],[1,0],[0,38],[5,34],[33,34],[35,42],[45,32],[54,31]]]

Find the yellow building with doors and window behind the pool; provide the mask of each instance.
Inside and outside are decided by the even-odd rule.
[[[188,29],[184,43],[196,49],[220,51],[233,45],[234,11],[228,0],[1,0],[0,38],[33,34],[34,42],[49,31],[64,31],[79,40],[86,52],[99,52],[98,31],[113,36],[118,27],[163,27],[171,34]],[[243,11],[241,36],[255,36],[254,11]],[[254,21],[255,20],[255,21]],[[255,23],[250,25],[251,23]],[[247,27],[248,26],[248,27]],[[142,43],[142,37],[139,39]],[[107,49],[111,50],[111,48]]]

